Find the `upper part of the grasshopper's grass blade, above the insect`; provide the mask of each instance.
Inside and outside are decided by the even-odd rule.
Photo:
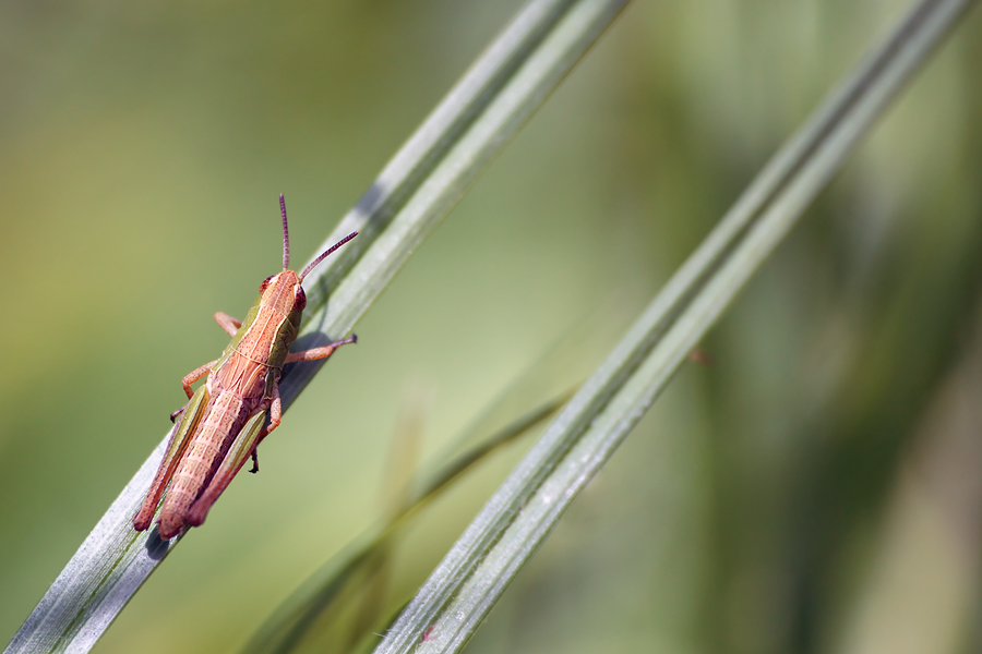
[[[313,311],[308,310],[301,330],[304,347],[351,330],[427,233],[625,4],[626,0],[530,2],[518,14],[409,141],[408,152],[396,155],[359,203],[360,207],[373,207],[372,211],[356,207],[328,239],[327,243],[333,243],[360,230],[351,242],[360,250],[352,249],[347,258],[338,257],[308,277]],[[499,69],[507,72],[506,78]],[[444,123],[446,135],[433,136]],[[450,138],[453,143],[448,146]],[[397,213],[390,218],[395,205]],[[380,231],[382,225],[384,231]],[[356,254],[360,258],[352,261]],[[346,277],[337,282],[342,274]],[[323,363],[309,362],[289,371],[280,385],[285,405]]]

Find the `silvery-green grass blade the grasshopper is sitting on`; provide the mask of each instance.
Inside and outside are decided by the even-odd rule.
[[[340,232],[361,231],[307,278],[308,319],[298,349],[351,330],[467,184],[625,3],[526,4],[327,239],[333,243]],[[299,365],[285,373],[285,409],[319,368]],[[83,542],[7,652],[88,651],[178,542],[161,542],[156,530],[136,534],[130,525],[161,456],[163,444]]]

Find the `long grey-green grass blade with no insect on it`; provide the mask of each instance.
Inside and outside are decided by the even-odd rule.
[[[491,497],[378,654],[458,652],[467,643],[690,350],[969,5],[917,3],[775,155]]]

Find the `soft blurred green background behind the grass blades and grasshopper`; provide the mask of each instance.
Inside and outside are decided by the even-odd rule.
[[[518,7],[0,5],[3,639],[164,436],[181,376],[227,342],[212,314],[241,317],[278,269],[276,195],[306,259]],[[585,342],[566,368],[591,370],[905,7],[630,5],[300,397],[262,472],[96,651],[240,647],[379,518],[402,398],[428,398],[426,458],[561,339]],[[714,364],[683,370],[471,651],[982,645],[980,20],[819,197],[707,339]],[[390,610],[523,447],[404,535]]]

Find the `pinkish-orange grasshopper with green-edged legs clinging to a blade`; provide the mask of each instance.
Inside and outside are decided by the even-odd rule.
[[[202,524],[208,509],[250,457],[251,472],[259,470],[255,449],[279,426],[283,416],[279,376],[284,364],[325,359],[340,346],[358,340],[351,335],[321,348],[289,351],[307,306],[300,282],[314,266],[358,232],[335,243],[297,275],[289,269],[290,238],[283,195],[279,196],[279,210],[283,215],[283,272],[260,284],[259,299],[244,320],[239,322],[221,312],[215,314],[215,322],[232,340],[220,358],[183,378],[188,403],[170,416],[175,420],[180,415],[180,423],[170,436],[146,499],[133,518],[136,531],[151,525],[168,484],[170,487],[158,520],[160,537],[171,538],[188,525]],[[207,380],[192,391],[191,385],[205,375]]]

